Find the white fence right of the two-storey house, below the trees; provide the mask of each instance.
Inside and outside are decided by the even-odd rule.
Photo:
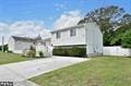
[[[104,56],[124,56],[124,57],[130,57],[131,56],[131,49],[121,48],[120,46],[104,47]]]

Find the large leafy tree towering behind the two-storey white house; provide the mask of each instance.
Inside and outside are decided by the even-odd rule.
[[[122,8],[109,5],[88,12],[79,24],[88,22],[96,22],[99,25],[104,35],[105,46],[121,45],[121,42],[119,42],[120,34],[122,34],[122,30],[127,30],[126,25],[131,23],[131,14],[126,13]]]

